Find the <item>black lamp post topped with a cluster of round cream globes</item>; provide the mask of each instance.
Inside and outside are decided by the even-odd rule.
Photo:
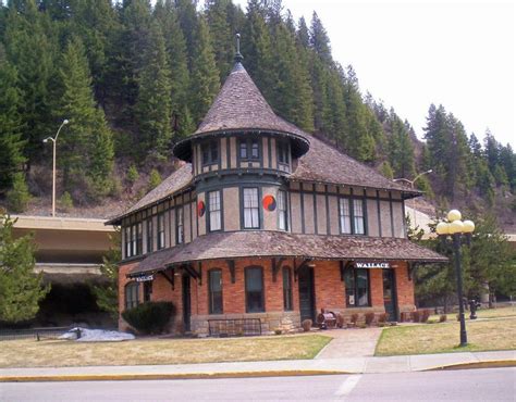
[[[444,239],[450,235],[453,240],[453,252],[455,256],[455,275],[457,276],[457,297],[458,297],[458,319],[460,322],[460,347],[468,344],[466,332],[466,321],[464,318],[464,299],[463,299],[463,271],[460,269],[460,238],[470,237],[475,230],[475,224],[471,221],[460,221],[462,214],[457,210],[447,213],[447,222],[440,222],[435,226],[435,231]],[[469,239],[468,239],[469,240]]]

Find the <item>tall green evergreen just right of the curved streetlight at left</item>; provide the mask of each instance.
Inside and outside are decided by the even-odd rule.
[[[76,201],[84,201],[81,198],[86,185],[89,196],[98,200],[112,190],[113,141],[102,110],[95,105],[81,39],[75,37],[66,45],[59,75],[61,96],[56,116],[70,121],[58,153],[64,188]]]

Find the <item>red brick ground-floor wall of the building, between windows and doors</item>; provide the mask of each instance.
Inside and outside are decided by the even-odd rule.
[[[299,265],[299,261],[297,265]],[[124,287],[128,282],[125,274],[130,272],[136,263],[122,265],[119,274],[120,309],[124,309]],[[370,300],[371,306],[346,309],[345,285],[341,280],[339,261],[316,261],[314,262],[314,286],[315,286],[315,307],[319,312],[321,309],[342,313],[349,316],[353,313],[364,314],[366,312],[384,312],[383,306],[383,279],[382,269],[370,269]],[[400,312],[414,310],[414,282],[408,279],[407,264],[395,263],[396,292]],[[263,268],[265,287],[265,312],[246,313],[245,303],[245,267],[261,266]],[[293,260],[285,260],[282,267],[291,267],[292,273],[292,296],[293,311],[283,310],[283,277],[282,269],[278,271],[277,280],[273,281],[271,259],[239,259],[235,261],[235,282],[232,282],[231,271],[225,260],[205,261],[201,264],[201,280],[191,279],[191,304],[192,304],[192,330],[199,335],[208,332],[207,319],[230,319],[257,317],[262,321],[265,332],[281,328],[285,331],[299,328],[299,298],[298,284],[294,275]],[[198,265],[195,266],[198,269]],[[209,314],[208,299],[208,273],[210,269],[219,268],[222,272],[222,303],[223,314]],[[182,310],[182,271],[176,271],[175,289],[160,274],[155,275],[152,284],[152,301],[171,301],[176,306],[176,319],[172,324],[171,331],[183,331],[183,310]],[[139,289],[139,299],[143,300],[143,286]],[[126,329],[127,324],[120,318],[119,326]]]

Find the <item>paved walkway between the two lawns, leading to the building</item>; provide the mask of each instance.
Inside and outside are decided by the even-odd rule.
[[[374,355],[383,328],[334,329],[321,332],[333,338],[316,359],[368,357]]]

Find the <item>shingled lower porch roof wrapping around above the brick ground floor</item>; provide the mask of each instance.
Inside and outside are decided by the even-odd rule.
[[[189,243],[153,252],[142,260],[128,276],[140,276],[204,260],[245,256],[447,262],[445,256],[401,238],[294,235],[265,230],[226,231],[200,236]]]

